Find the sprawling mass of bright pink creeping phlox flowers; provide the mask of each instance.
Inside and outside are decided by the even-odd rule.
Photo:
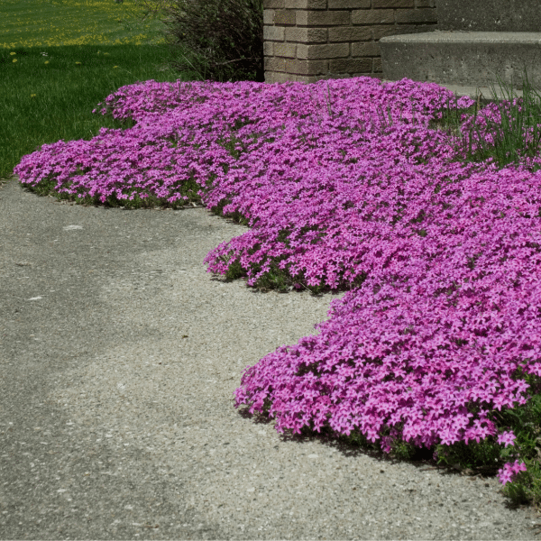
[[[458,160],[429,123],[469,105],[409,80],[147,81],[100,105],[133,128],[44,145],[15,173],[104,203],[181,205],[195,179],[208,208],[250,225],[208,271],[346,289],[317,335],[243,373],[236,406],[279,431],[359,430],[385,451],[507,446],[493,412],[525,404],[525,375],[541,376],[541,171]]]

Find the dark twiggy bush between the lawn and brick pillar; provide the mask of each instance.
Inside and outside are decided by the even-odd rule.
[[[171,0],[172,66],[200,80],[264,81],[262,0]]]

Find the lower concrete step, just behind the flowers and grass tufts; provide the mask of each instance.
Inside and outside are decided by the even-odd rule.
[[[383,78],[541,89],[541,32],[426,32],[381,38]]]

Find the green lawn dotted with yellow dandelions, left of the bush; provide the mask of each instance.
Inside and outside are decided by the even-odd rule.
[[[91,139],[102,126],[120,127],[92,114],[118,87],[189,78],[168,68],[162,24],[143,20],[138,6],[133,0],[2,0],[0,179],[43,143]]]

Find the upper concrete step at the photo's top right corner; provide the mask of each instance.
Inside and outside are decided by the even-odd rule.
[[[539,32],[539,0],[437,0],[438,30]]]

